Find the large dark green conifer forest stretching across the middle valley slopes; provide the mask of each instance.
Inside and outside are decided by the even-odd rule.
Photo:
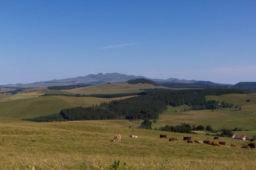
[[[243,89],[189,89],[166,90],[148,89],[139,93],[139,96],[128,99],[101,103],[93,107],[67,108],[60,111],[60,117],[43,116],[33,119],[24,119],[35,122],[49,122],[67,120],[103,120],[103,119],[158,119],[160,113],[167,109],[167,105],[189,105],[192,110],[216,109],[233,106],[227,102],[215,100],[206,101],[207,95],[247,94],[250,91]],[[118,96],[118,94],[116,94]],[[220,104],[220,105],[219,105]]]

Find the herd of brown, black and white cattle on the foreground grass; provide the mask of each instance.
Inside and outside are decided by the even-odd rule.
[[[131,138],[137,138],[138,136],[130,135],[130,137]],[[160,138],[167,139],[167,135],[160,134]],[[193,143],[192,137],[183,136],[182,139],[183,139],[183,142],[186,142],[186,140],[187,140],[188,143]],[[213,140],[216,140],[216,139],[218,139],[218,137],[213,138]],[[178,141],[179,139],[176,139],[176,138],[170,138],[169,139],[169,141],[175,141],[175,140]],[[115,141],[116,142],[121,142],[121,135],[119,135],[119,134],[115,135],[114,139],[113,139],[113,142],[115,142]],[[253,140],[251,139],[250,143],[247,144],[247,146],[244,145],[244,146],[241,146],[241,148],[249,148],[249,146],[250,146],[251,150],[253,150],[253,149],[255,150],[255,143],[252,143],[252,142],[253,142]],[[213,141],[209,141],[209,140],[205,140],[205,141],[195,140],[195,143],[199,143],[199,144],[204,144],[205,143],[205,144],[210,144],[210,145],[213,145],[213,146],[220,146],[220,144],[223,144],[223,145],[226,144],[226,142],[213,142]],[[236,145],[231,144],[231,147],[236,147]]]

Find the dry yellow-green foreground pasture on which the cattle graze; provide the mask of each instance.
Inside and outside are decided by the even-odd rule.
[[[137,129],[125,120],[25,122],[0,118],[0,168],[6,170],[110,169],[115,160],[127,170],[254,169],[256,151],[240,148],[248,142],[220,138],[227,145],[182,142],[188,134]],[[159,139],[160,134],[167,139]],[[121,143],[112,142],[121,134]],[[129,135],[138,136],[131,139]],[[192,140],[212,136],[189,135]],[[179,141],[169,142],[174,137]],[[215,141],[218,142],[218,141]],[[231,144],[237,147],[230,147]]]

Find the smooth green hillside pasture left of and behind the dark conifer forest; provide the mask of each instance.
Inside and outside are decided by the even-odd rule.
[[[18,95],[16,94],[11,96]],[[89,107],[96,104],[99,105],[102,102],[110,102],[112,100],[125,99],[127,97],[132,96],[112,99],[96,97],[37,96],[29,99],[3,101],[0,102],[0,117],[11,117],[16,119],[34,118],[38,116],[46,116],[53,113],[59,113],[61,109],[64,108],[71,108],[76,106]]]

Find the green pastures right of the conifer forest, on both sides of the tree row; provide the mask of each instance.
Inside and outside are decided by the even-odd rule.
[[[207,100],[218,100],[222,102],[233,103],[239,105],[242,110],[235,108],[224,108],[218,110],[201,110],[201,111],[182,111],[187,105],[178,107],[168,106],[168,109],[160,114],[157,124],[154,127],[168,125],[180,125],[180,123],[188,123],[190,125],[207,125],[213,129],[221,128],[234,129],[235,127],[244,130],[256,130],[256,94],[225,94],[221,96],[206,96]],[[250,99],[250,102],[246,102]],[[177,112],[175,112],[177,111]],[[247,131],[246,133],[249,133]],[[254,133],[253,133],[254,134]],[[252,136],[253,134],[249,134]]]

